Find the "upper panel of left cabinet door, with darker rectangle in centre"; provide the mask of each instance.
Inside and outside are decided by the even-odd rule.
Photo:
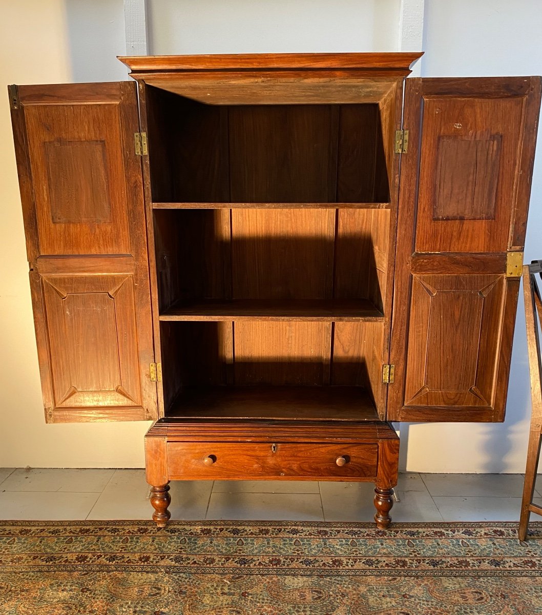
[[[130,254],[119,101],[33,103],[25,122],[39,253]]]

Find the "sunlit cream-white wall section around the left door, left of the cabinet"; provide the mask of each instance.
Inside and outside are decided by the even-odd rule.
[[[10,83],[65,83],[75,81],[74,76],[79,81],[125,78],[126,71],[115,57],[124,52],[122,0],[2,2],[0,467],[144,466],[147,422],[45,424],[6,92]]]

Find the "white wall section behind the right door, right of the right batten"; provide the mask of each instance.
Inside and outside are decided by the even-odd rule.
[[[542,74],[540,0],[425,0],[422,76]],[[542,130],[525,263],[542,258]],[[520,293],[506,421],[401,426],[403,467],[420,472],[525,472],[530,384]],[[407,436],[407,437],[406,437]]]

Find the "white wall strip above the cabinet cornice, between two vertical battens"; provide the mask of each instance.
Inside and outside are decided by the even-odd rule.
[[[147,0],[151,53],[395,51],[399,0]]]

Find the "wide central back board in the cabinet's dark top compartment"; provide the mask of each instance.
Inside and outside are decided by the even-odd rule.
[[[337,111],[331,105],[230,107],[230,200],[336,200]]]

